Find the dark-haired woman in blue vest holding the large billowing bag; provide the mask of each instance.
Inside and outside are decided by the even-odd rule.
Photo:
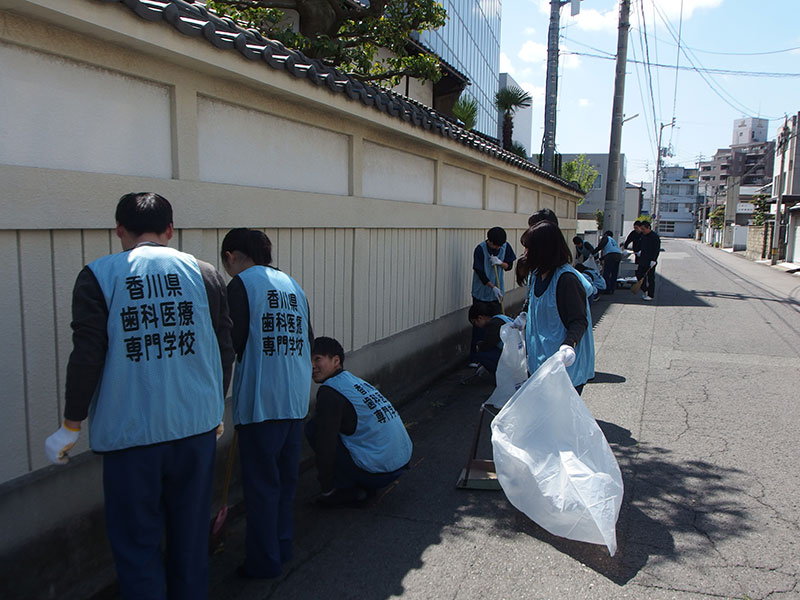
[[[572,385],[580,394],[594,377],[594,336],[588,295],[592,286],[572,266],[561,231],[542,222],[522,234],[525,259],[517,264],[517,282],[533,278],[525,329],[528,371],[534,373],[560,353]]]

